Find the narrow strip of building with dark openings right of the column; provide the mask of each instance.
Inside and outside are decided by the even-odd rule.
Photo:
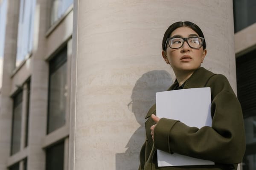
[[[256,169],[256,1],[233,0],[237,94],[246,132],[243,170]]]

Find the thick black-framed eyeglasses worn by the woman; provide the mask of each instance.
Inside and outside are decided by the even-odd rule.
[[[166,40],[166,45],[168,43],[170,48],[177,49],[182,47],[184,42],[187,42],[190,48],[201,48],[204,42],[204,38],[202,37],[187,37],[187,38],[182,38],[182,37],[172,37],[172,38],[167,38]],[[165,47],[166,47],[165,45]]]

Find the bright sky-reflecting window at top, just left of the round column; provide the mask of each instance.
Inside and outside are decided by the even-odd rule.
[[[55,23],[73,4],[73,0],[51,0],[50,26]]]

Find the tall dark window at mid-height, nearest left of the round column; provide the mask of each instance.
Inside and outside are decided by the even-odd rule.
[[[47,134],[65,124],[67,96],[67,47],[49,62]]]

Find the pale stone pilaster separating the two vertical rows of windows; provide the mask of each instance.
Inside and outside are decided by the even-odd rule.
[[[40,26],[47,22],[47,1],[37,0],[35,6],[34,47],[31,58],[31,86],[29,103],[29,142],[28,170],[45,170],[45,152],[42,149],[42,136],[47,129],[48,64],[45,33],[47,28]]]

